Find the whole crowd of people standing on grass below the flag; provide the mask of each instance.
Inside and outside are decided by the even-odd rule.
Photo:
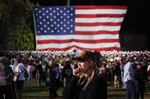
[[[33,79],[39,86],[49,86],[50,99],[58,96],[59,87],[64,99],[106,99],[108,83],[126,89],[127,99],[144,99],[145,82],[150,80],[149,51],[80,53],[1,52],[0,99],[21,99],[24,82]]]

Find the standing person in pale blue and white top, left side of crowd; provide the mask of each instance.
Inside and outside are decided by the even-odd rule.
[[[24,81],[25,81],[25,57],[20,56],[18,58],[18,65],[16,66],[15,69],[15,75],[17,75],[16,79],[16,93],[17,93],[17,99],[22,99],[22,90],[24,86]]]

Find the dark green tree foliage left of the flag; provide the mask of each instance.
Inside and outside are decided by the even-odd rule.
[[[0,50],[35,50],[29,0],[0,0]]]

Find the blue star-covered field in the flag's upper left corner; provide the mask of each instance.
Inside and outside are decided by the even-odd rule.
[[[73,11],[73,12],[72,12]],[[46,7],[35,11],[35,20],[39,35],[72,34],[74,33],[74,8]]]

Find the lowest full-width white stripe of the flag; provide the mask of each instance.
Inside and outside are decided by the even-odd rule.
[[[77,43],[77,42],[70,42],[70,43],[51,43],[51,44],[40,44],[37,45],[37,49],[46,49],[46,48],[67,48],[70,46],[78,46],[82,48],[109,48],[109,47],[118,47],[120,48],[119,42],[116,43],[97,43],[97,44],[87,44],[87,43]]]

